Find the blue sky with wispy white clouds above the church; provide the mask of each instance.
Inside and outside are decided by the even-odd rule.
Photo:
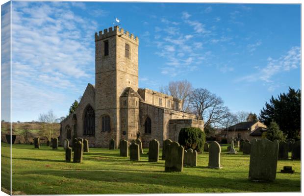
[[[12,4],[12,121],[66,116],[95,83],[94,33],[139,37],[139,87],[187,79],[232,112],[259,114],[301,86],[299,4],[18,2]]]

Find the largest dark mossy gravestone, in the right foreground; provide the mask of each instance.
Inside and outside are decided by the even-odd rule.
[[[251,141],[249,179],[274,181],[277,173],[279,142],[268,139]]]

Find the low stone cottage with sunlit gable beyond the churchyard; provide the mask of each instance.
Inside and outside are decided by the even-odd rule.
[[[228,138],[228,141],[230,141],[232,137],[236,140],[240,140],[241,138],[244,140],[252,140],[253,138],[260,139],[265,131],[267,131],[267,126],[259,121],[242,122],[223,129],[221,136]]]

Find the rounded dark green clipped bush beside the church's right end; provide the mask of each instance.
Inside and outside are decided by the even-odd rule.
[[[181,128],[178,134],[178,143],[185,149],[192,148],[197,152],[202,152],[205,141],[205,133],[197,127]]]

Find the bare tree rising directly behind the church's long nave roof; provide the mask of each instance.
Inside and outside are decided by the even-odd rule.
[[[192,91],[192,84],[187,80],[179,80],[169,82],[168,86],[161,86],[159,88],[161,93],[170,95],[181,100],[181,110],[188,111],[189,96]]]

